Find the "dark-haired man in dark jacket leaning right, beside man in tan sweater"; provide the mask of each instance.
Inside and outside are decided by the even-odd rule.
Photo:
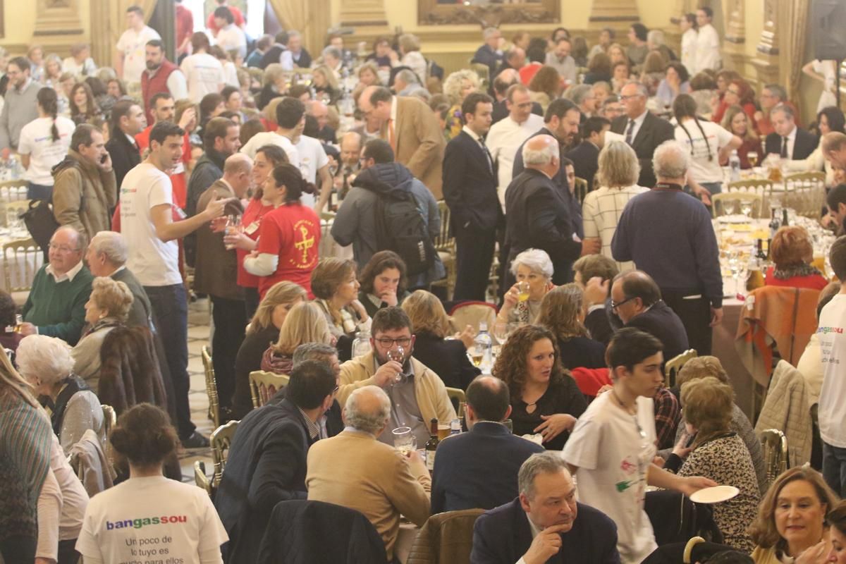
[[[229,449],[215,507],[229,535],[227,562],[254,562],[273,507],[305,499],[305,459],[320,437],[317,420],[338,390],[326,363],[305,361],[291,370],[285,399],[247,414]]]

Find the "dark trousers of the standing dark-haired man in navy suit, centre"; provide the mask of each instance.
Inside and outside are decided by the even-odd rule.
[[[457,269],[453,300],[485,301],[487,282],[491,277],[493,249],[497,243],[495,229],[453,226],[455,234],[455,266]]]

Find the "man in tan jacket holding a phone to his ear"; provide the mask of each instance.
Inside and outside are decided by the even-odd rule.
[[[112,157],[99,129],[82,123],[70,138],[70,151],[53,169],[53,216],[88,239],[112,225],[118,189]]]

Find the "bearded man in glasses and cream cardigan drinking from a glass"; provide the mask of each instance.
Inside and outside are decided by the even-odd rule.
[[[423,446],[431,419],[447,424],[456,417],[447,388],[440,376],[411,356],[415,337],[403,309],[379,309],[373,315],[371,335],[372,352],[341,365],[338,402],[343,404],[362,386],[381,387],[391,398],[391,417],[378,440],[393,445],[391,431],[410,427],[417,445]]]

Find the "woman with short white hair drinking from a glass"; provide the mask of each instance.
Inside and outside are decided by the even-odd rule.
[[[517,282],[503,296],[497,322],[534,323],[543,297],[554,287],[552,273],[552,260],[546,251],[525,249],[514,257],[511,274]]]

